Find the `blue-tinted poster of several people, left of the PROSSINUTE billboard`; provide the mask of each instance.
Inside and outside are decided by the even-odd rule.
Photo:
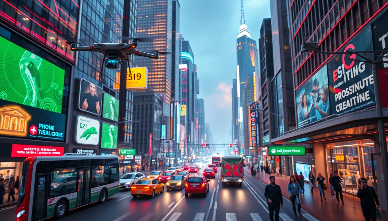
[[[298,127],[330,115],[327,65],[296,89]]]

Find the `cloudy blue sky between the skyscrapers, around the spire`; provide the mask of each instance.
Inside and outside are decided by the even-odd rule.
[[[245,23],[258,41],[270,0],[244,0]],[[229,143],[232,125],[232,79],[236,78],[236,38],[240,0],[179,0],[180,34],[190,42],[198,66],[199,94],[205,101],[205,122],[215,144]]]

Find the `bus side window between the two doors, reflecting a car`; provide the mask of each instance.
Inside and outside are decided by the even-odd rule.
[[[50,198],[76,192],[76,169],[65,168],[51,173]]]

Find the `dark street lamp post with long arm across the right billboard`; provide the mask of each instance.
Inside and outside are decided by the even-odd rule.
[[[381,158],[382,158],[382,169],[383,169],[383,179],[384,182],[387,184],[388,182],[388,151],[387,151],[387,145],[386,145],[386,138],[385,138],[385,130],[384,130],[384,122],[383,122],[383,109],[381,108],[381,100],[380,100],[380,87],[379,87],[379,80],[378,80],[378,74],[377,74],[377,64],[378,63],[386,63],[386,61],[383,61],[383,58],[385,57],[385,54],[388,53],[388,50],[381,50],[381,51],[344,51],[344,52],[330,52],[330,51],[321,51],[319,50],[318,43],[315,42],[303,42],[301,45],[301,51],[302,52],[308,52],[312,53],[314,51],[318,53],[323,54],[329,54],[329,55],[335,55],[335,54],[348,54],[348,55],[358,55],[360,58],[364,60],[358,60],[350,57],[349,59],[352,61],[358,61],[358,62],[364,62],[369,63],[372,65],[372,75],[373,75],[373,88],[374,88],[374,99],[376,102],[376,111],[377,111],[377,126],[378,126],[378,133],[379,133],[379,143],[380,143],[380,152],[381,152]],[[380,53],[378,55],[378,58],[375,59],[377,56],[376,53]],[[372,54],[373,59],[369,58],[368,54]],[[374,177],[375,179],[375,177]],[[388,207],[388,191],[385,191],[385,200],[386,200],[386,206]]]

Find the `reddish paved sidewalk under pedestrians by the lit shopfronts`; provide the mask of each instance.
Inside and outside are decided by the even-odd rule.
[[[250,171],[246,171],[248,176],[251,176]],[[279,185],[282,189],[283,197],[288,197],[287,187],[289,183],[289,176],[287,178],[285,176],[277,176],[276,173],[272,174],[276,178],[276,184]],[[260,180],[262,183],[266,185],[269,184],[269,175],[265,173],[259,173],[259,177],[256,179]],[[362,215],[360,199],[358,197],[354,197],[354,205],[353,207],[353,196],[343,193],[343,201],[338,203],[337,200],[330,199],[330,188],[325,191],[326,201],[320,201],[319,190],[317,187],[314,187],[313,192],[314,195],[311,195],[311,187],[305,182],[305,195],[301,195],[301,206],[302,209],[307,211],[308,213],[314,215],[317,218],[322,220],[364,220],[364,216]],[[335,198],[335,195],[334,195]],[[341,199],[340,199],[341,201]],[[383,212],[383,219],[387,217],[387,213]]]

